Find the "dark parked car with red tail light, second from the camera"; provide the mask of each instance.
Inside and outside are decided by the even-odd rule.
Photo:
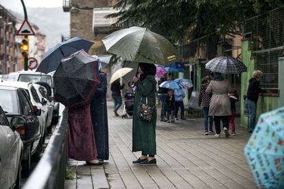
[[[0,105],[9,121],[14,117],[23,118],[23,125],[16,127],[16,131],[23,141],[22,168],[25,176],[29,175],[31,156],[41,153],[40,110],[34,108],[27,92],[23,88],[0,86]]]

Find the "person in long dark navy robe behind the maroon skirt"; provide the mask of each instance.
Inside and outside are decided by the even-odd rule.
[[[91,101],[91,118],[93,123],[93,130],[95,136],[95,143],[97,144],[97,159],[108,160],[108,112],[106,108],[106,89],[107,80],[106,73],[102,72],[102,63],[99,61],[99,85],[95,90],[95,95]]]

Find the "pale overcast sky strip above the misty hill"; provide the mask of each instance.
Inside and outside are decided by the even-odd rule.
[[[55,8],[62,6],[62,0],[24,0],[26,7],[37,8]],[[20,0],[0,0],[0,4],[5,8],[12,9],[16,12],[23,10]]]

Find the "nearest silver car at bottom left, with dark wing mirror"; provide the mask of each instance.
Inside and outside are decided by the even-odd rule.
[[[15,116],[10,125],[0,106],[0,188],[21,188],[23,142],[16,129],[24,122]]]

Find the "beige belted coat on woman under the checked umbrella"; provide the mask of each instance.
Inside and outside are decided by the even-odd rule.
[[[209,116],[230,116],[230,99],[228,92],[231,92],[232,88],[228,81],[211,81],[208,88],[205,90],[206,93],[213,93],[210,107]]]

